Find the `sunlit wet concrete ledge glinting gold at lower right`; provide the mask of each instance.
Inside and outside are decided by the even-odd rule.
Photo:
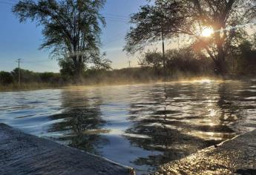
[[[161,165],[155,174],[256,174],[256,131]]]

